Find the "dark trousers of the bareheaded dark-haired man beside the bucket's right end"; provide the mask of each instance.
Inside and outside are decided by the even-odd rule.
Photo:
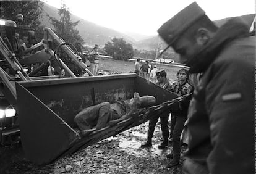
[[[181,133],[187,117],[184,115],[171,115],[171,135],[173,138],[173,157],[179,158],[181,154]]]

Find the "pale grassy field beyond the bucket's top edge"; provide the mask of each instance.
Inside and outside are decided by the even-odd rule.
[[[89,63],[86,62],[88,65]],[[142,65],[142,63],[140,63]],[[157,68],[164,69],[167,73],[169,81],[173,82],[177,80],[176,73],[181,67],[175,67],[170,65],[163,65],[161,67],[159,64],[156,64]],[[109,72],[109,73],[129,73],[134,72],[134,62],[114,60],[108,58],[100,59],[100,64],[98,67],[99,72]]]

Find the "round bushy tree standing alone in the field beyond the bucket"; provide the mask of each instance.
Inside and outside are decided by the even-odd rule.
[[[126,43],[124,38],[113,38],[111,41],[105,44],[105,51],[109,56],[113,56],[113,59],[128,60],[134,57],[134,51],[132,44]]]

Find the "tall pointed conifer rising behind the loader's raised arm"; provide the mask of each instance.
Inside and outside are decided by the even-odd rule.
[[[64,39],[66,43],[74,45],[77,51],[82,52],[83,39],[79,35],[79,31],[75,30],[75,26],[79,25],[80,20],[77,22],[72,22],[70,19],[71,13],[65,4],[63,4],[61,9],[58,9],[58,14],[60,16],[59,20],[47,14],[48,19],[51,21],[51,24],[55,28],[54,31],[56,35]],[[70,70],[72,70],[75,75],[79,76],[82,73],[82,70],[69,56],[65,55],[64,52],[61,52],[60,56],[63,62],[70,68]]]

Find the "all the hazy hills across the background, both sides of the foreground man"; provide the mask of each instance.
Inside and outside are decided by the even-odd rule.
[[[48,21],[48,17],[46,17],[46,13],[55,17],[56,19],[59,19],[59,15],[57,14],[57,12],[58,12],[58,9],[56,7],[49,6],[48,4],[44,3],[42,25],[53,28],[53,26],[51,26],[51,24]],[[254,19],[254,16],[255,14],[249,14],[249,15],[242,15],[241,17],[242,19],[244,19],[244,21],[248,25],[250,25],[252,23],[252,20]],[[104,46],[105,43],[107,43],[108,41],[111,41],[111,38],[116,37],[116,38],[124,38],[127,41],[127,43],[132,44],[132,46],[135,49],[150,50],[150,49],[156,49],[158,48],[158,46],[159,46],[159,49],[163,49],[166,47],[166,44],[164,43],[164,41],[158,36],[144,36],[144,35],[135,34],[135,33],[121,33],[119,31],[102,27],[92,22],[88,22],[87,20],[77,17],[76,15],[71,15],[71,19],[74,22],[77,20],[81,20],[81,23],[77,25],[76,29],[79,30],[79,35],[82,36],[85,43],[91,46],[94,44],[100,44],[100,46]],[[221,19],[221,20],[215,20],[215,23],[218,27],[220,27],[228,19],[230,19],[230,17]]]

